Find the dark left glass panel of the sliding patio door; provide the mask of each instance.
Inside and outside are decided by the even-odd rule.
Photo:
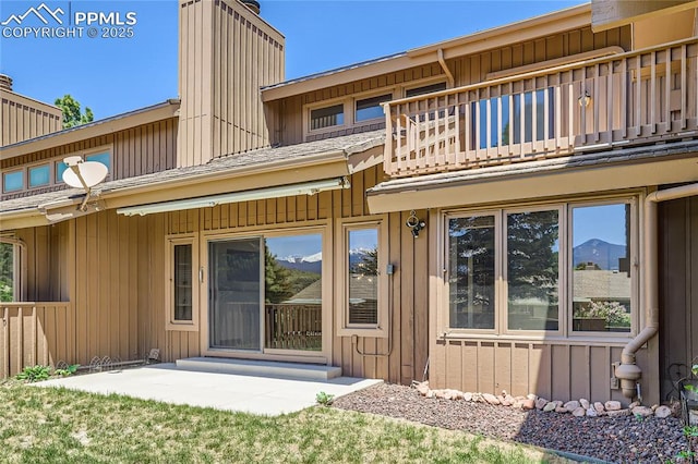
[[[209,346],[261,351],[262,240],[208,243]]]

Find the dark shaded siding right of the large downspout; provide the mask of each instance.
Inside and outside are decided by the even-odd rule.
[[[659,367],[667,400],[677,398],[673,382],[698,356],[698,197],[661,203],[659,213]]]

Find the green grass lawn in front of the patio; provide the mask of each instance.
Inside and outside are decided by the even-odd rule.
[[[280,417],[0,384],[1,463],[529,463],[508,443],[311,407]]]

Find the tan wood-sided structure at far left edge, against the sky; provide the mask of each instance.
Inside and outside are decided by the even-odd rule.
[[[13,91],[0,91],[0,146],[60,131],[60,109]]]

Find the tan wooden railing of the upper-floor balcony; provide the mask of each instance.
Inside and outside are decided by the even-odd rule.
[[[698,40],[385,105],[385,172],[407,176],[696,135]]]

